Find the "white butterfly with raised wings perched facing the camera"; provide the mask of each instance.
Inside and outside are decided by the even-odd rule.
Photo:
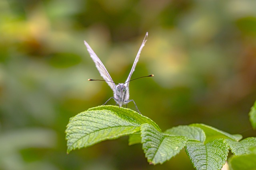
[[[143,40],[143,42],[140,46],[138,54],[137,54],[137,56],[134,60],[134,63],[132,65],[132,70],[130,71],[130,73],[128,75],[128,78],[126,79],[126,82],[125,83],[119,83],[117,85],[116,85],[116,83],[113,82],[113,80],[112,80],[111,76],[109,75],[107,69],[105,68],[104,64],[100,61],[98,56],[94,53],[94,51],[92,50],[90,45],[86,41],[84,41],[84,44],[86,45],[87,50],[88,50],[92,60],[94,61],[95,65],[96,65],[96,68],[100,72],[100,75],[102,76],[102,78],[104,78],[104,80],[108,83],[108,86],[110,86],[110,88],[114,92],[114,97],[111,97],[111,98],[113,98],[116,101],[116,104],[118,104],[119,107],[122,107],[125,104],[127,106],[127,104],[129,102],[134,102],[134,100],[129,100],[129,82],[130,82],[132,73],[135,70],[136,64],[139,61],[140,52],[142,51],[142,48],[144,47],[144,45],[147,41],[146,40],[147,37],[148,37],[148,32],[146,33],[146,35],[144,37],[144,40]],[[154,76],[154,75],[152,74],[150,76]],[[147,77],[147,76],[145,76],[145,77]],[[92,80],[92,79],[88,79],[88,80]],[[108,99],[104,104],[106,104],[110,99]],[[136,109],[138,110],[138,107],[136,106],[135,102],[134,102],[134,105],[135,105]],[[140,111],[139,111],[139,113],[140,113]]]

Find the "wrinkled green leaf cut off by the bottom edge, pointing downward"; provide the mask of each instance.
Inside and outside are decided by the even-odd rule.
[[[188,141],[185,149],[194,168],[198,170],[219,170],[228,156],[228,146],[224,139],[216,139],[207,144]]]

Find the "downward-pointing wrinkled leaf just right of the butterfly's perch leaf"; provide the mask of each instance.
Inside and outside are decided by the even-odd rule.
[[[145,123],[141,126],[142,149],[150,164],[162,164],[169,160],[186,145],[183,136],[166,136],[154,126]]]

